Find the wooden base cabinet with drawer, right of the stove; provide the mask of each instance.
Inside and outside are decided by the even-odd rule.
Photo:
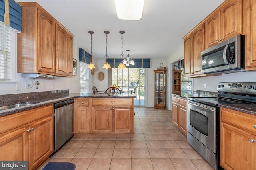
[[[220,110],[220,165],[225,170],[255,170],[256,116]]]

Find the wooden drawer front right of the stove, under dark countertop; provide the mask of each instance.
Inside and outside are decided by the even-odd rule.
[[[249,130],[256,135],[256,116],[221,107],[221,121]]]

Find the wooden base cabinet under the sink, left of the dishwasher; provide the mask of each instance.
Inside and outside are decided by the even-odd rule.
[[[28,161],[29,170],[49,158],[53,153],[53,106],[0,117],[0,151],[0,160]]]

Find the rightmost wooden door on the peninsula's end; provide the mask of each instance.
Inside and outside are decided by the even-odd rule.
[[[132,107],[113,107],[113,132],[130,133],[133,131]]]

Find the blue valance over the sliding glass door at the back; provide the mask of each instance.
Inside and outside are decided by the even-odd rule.
[[[121,59],[108,59],[111,68],[117,68],[121,63]],[[135,65],[126,66],[126,68],[150,68],[150,59],[134,59]]]

